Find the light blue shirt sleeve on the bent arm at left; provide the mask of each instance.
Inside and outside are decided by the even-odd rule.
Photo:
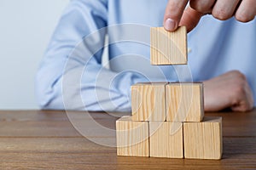
[[[36,77],[42,109],[131,111],[130,87],[141,75],[102,67],[108,1],[72,0],[46,49]]]

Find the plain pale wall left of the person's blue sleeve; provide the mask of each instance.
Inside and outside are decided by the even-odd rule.
[[[34,77],[69,0],[0,0],[0,110],[38,109]]]

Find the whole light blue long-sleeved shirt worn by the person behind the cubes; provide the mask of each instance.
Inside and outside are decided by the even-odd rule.
[[[188,35],[188,65],[150,65],[149,28],[162,26],[167,0],[72,0],[36,79],[43,109],[131,111],[136,82],[204,81],[227,71],[247,76],[256,97],[256,20],[204,16]],[[108,35],[108,66],[102,52]],[[229,86],[229,84],[227,84]],[[256,102],[254,103],[256,105]]]

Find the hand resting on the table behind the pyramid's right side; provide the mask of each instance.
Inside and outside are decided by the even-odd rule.
[[[250,111],[253,93],[246,77],[239,71],[230,71],[204,82],[205,111]]]

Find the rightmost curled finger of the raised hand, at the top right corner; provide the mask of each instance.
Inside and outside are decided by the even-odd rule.
[[[241,22],[248,22],[254,19],[256,15],[256,1],[255,0],[243,0],[239,8],[236,10],[236,20]]]

